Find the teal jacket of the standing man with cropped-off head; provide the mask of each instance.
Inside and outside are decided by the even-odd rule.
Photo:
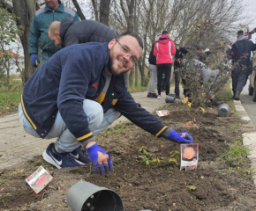
[[[44,52],[49,52],[50,54],[56,53],[61,47],[57,47],[54,41],[49,39],[49,25],[55,20],[62,21],[63,18],[67,17],[74,18],[75,21],[80,20],[75,11],[65,7],[60,1],[58,3],[60,5],[55,11],[46,5],[35,12],[28,38],[29,54],[38,54],[38,46]]]

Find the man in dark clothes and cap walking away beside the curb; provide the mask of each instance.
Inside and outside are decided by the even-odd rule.
[[[232,71],[232,91],[233,98],[240,99],[240,92],[246,84],[248,76],[252,73],[251,52],[256,49],[256,45],[251,40],[247,40],[243,31],[238,31],[237,41],[232,45],[230,56],[232,62],[237,62],[237,67]]]

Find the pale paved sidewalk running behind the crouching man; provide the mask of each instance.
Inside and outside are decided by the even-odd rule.
[[[174,93],[174,87],[170,87],[170,93]],[[150,113],[166,104],[164,92],[161,99],[147,98],[147,91],[133,93],[132,97]],[[111,127],[125,120],[127,119],[121,117]],[[33,156],[41,156],[49,143],[55,141],[56,139],[39,139],[26,134],[20,126],[18,113],[0,118],[0,169],[25,162]]]

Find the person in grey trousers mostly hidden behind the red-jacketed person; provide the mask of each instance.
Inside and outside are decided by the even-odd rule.
[[[159,40],[162,33],[157,33],[155,37],[155,41]],[[148,84],[148,93],[147,98],[157,98],[156,92],[155,92],[155,84],[157,84],[157,67],[156,67],[156,57],[154,56],[154,44],[152,45],[152,49],[149,54],[148,58],[148,69],[150,71],[150,80]]]

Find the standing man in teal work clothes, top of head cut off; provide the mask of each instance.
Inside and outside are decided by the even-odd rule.
[[[54,55],[61,47],[56,47],[48,36],[48,28],[52,21],[61,21],[63,18],[72,17],[79,21],[79,16],[72,9],[67,8],[58,0],[45,0],[45,6],[34,14],[34,19],[30,25],[28,38],[28,52],[31,56],[31,64],[37,67],[40,62],[38,48],[41,48],[42,63],[46,62],[50,56]]]

